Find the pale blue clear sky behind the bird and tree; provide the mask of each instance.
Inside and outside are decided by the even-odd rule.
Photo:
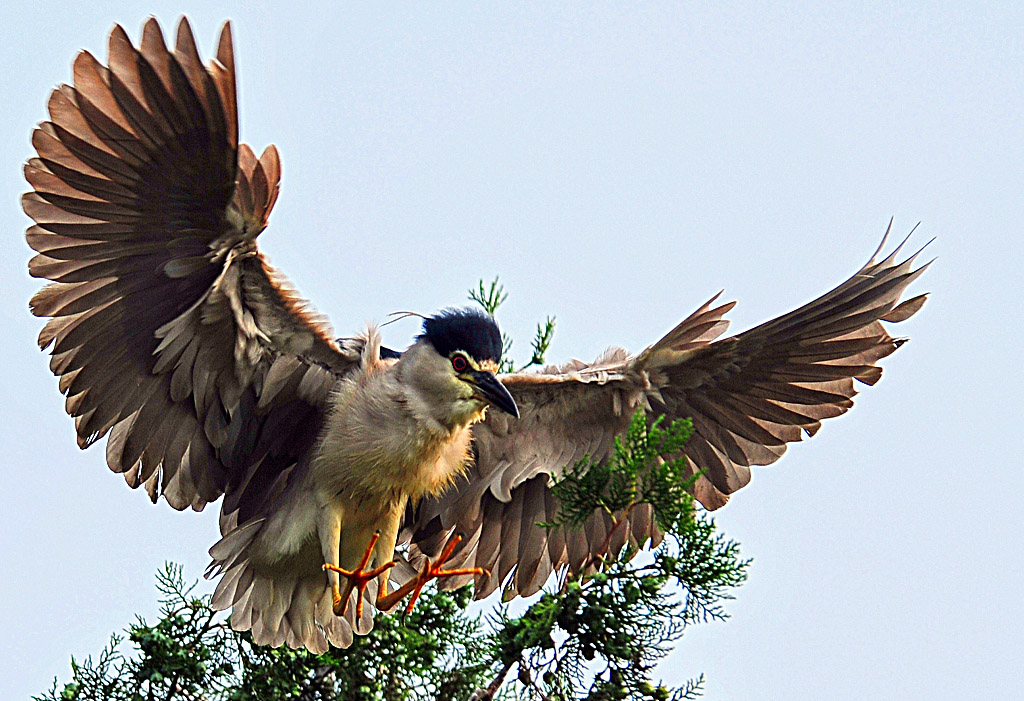
[[[284,161],[262,247],[339,334],[495,274],[520,357],[545,314],[551,359],[590,359],[722,288],[741,331],[845,279],[890,217],[922,221],[939,261],[912,342],[719,512],[750,581],[663,673],[705,672],[713,700],[1019,698],[1021,7],[5,3],[0,696],[66,680],[217,537],[215,508],[151,506],[75,447],[18,206],[75,52],[184,12],[204,55],[234,21],[243,139]]]

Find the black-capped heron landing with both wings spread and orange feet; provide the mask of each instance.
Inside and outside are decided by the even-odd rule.
[[[400,352],[373,324],[336,338],[257,247],[282,167],[240,142],[234,75],[229,23],[206,63],[185,18],[173,46],[155,18],[138,46],[115,26],[105,64],[82,51],[51,93],[23,208],[80,447],[105,438],[153,501],[221,500],[212,605],[260,645],[345,647],[433,578],[529,596],[601,546],[655,546],[647,506],[541,528],[565,466],[607,458],[638,410],[688,418],[693,496],[719,509],[878,382],[906,340],[885,324],[927,299],[903,299],[930,263],[883,254],[890,222],[849,279],[734,336],[720,293],[639,353],[531,371],[500,371],[475,309],[423,316]]]

